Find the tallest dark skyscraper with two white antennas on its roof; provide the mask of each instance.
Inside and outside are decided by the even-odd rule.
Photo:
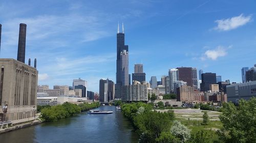
[[[117,60],[116,60],[116,98],[121,99],[121,88],[129,85],[129,52],[128,45],[124,45],[124,28],[117,29]]]

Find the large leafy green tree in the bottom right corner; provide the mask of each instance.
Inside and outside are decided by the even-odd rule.
[[[220,121],[223,128],[218,132],[226,142],[256,142],[256,98],[241,99],[238,106],[224,103]]]

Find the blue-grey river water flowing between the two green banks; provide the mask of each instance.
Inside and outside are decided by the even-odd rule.
[[[115,106],[101,106],[113,110],[110,115],[91,115],[82,112],[71,118],[0,134],[0,142],[138,142],[132,124]]]

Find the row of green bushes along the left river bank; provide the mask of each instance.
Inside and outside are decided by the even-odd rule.
[[[87,111],[92,108],[99,107],[99,102],[81,103],[81,104],[72,104],[65,102],[61,105],[56,106],[37,106],[37,111],[41,112],[41,121],[42,122],[53,122],[60,119],[68,118],[73,115],[76,115],[82,111]]]

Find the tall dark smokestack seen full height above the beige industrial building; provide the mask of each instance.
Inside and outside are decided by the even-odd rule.
[[[20,23],[19,24],[19,35],[18,35],[17,60],[22,63],[25,63],[26,31],[27,31],[27,25],[24,23]]]

